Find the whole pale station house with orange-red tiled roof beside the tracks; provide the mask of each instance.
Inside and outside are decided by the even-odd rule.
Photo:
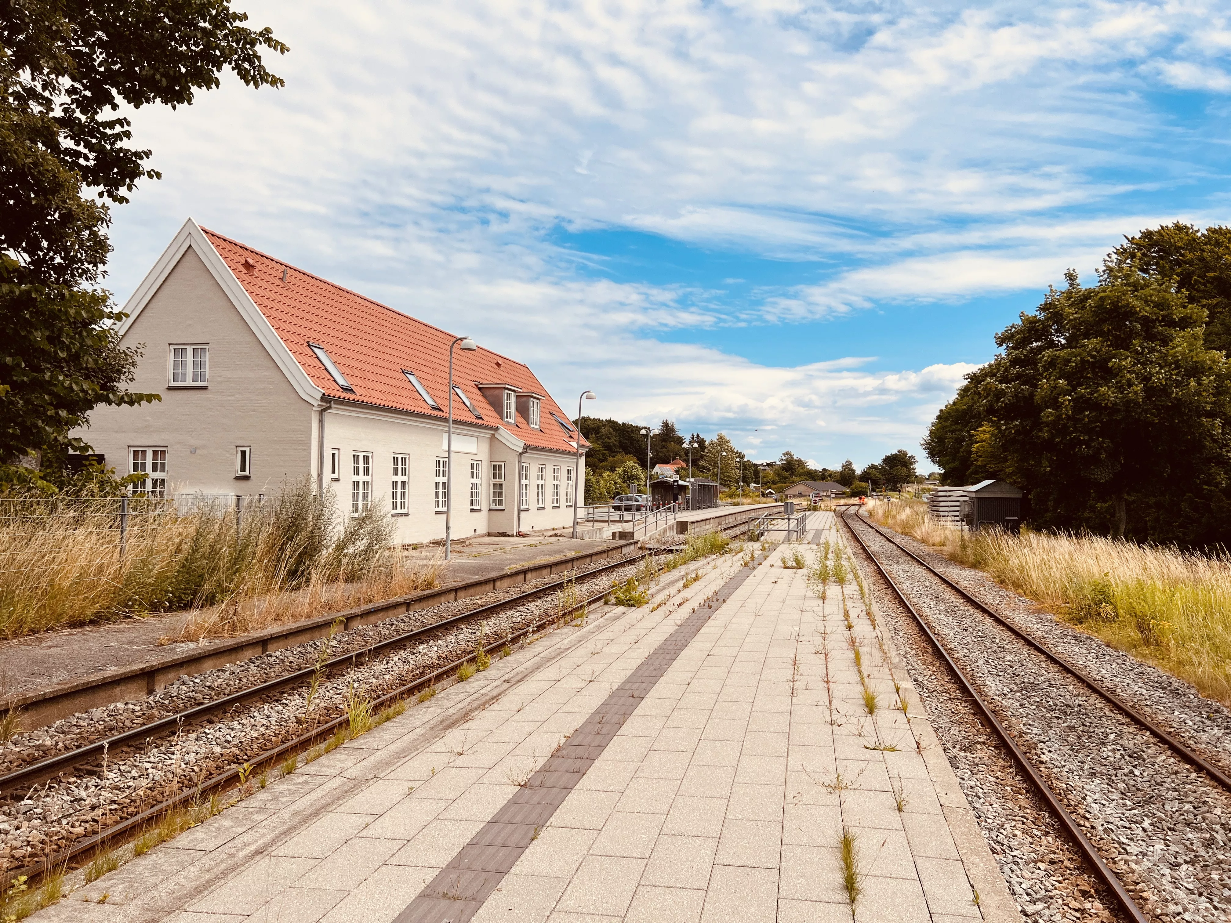
[[[199,228],[176,234],[124,306],[144,343],[132,388],[87,438],[146,492],[256,495],[311,477],[345,514],[373,505],[398,539],[444,535],[454,335]],[[475,331],[465,331],[475,332]],[[570,525],[579,434],[531,369],[453,351],[454,538]]]

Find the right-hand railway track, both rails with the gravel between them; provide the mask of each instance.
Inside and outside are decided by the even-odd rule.
[[[1020,773],[1033,784],[1039,799],[1096,877],[1114,896],[1120,911],[1135,923],[1215,918],[1200,913],[1193,916],[1192,909],[1185,909],[1187,903],[1182,898],[1200,889],[1194,889],[1193,882],[1184,880],[1179,873],[1189,863],[1206,858],[1200,853],[1185,854],[1193,849],[1194,842],[1215,845],[1231,837],[1231,828],[1222,820],[1231,809],[1227,796],[1231,778],[1140,709],[1022,631],[896,539],[857,513],[852,522],[852,509],[857,508],[848,507],[838,516],[851,537],[875,565],[896,602],[913,618]],[[900,557],[892,560],[895,555]],[[915,597],[913,601],[911,597]],[[971,620],[971,609],[986,619],[981,623]],[[1014,644],[1017,649],[1013,649]],[[982,661],[981,653],[986,655]],[[1032,697],[1038,701],[1032,703]],[[1022,703],[1029,708],[1019,715],[1017,709]],[[1075,715],[1078,715],[1076,720]],[[1075,726],[1077,735],[1073,733]],[[1126,729],[1139,737],[1129,740]],[[1156,751],[1163,751],[1167,758],[1160,759]],[[1144,780],[1126,785],[1119,780],[1124,778],[1124,772],[1101,779],[1112,768],[1108,763],[1114,765],[1114,757],[1108,759],[1109,753],[1124,753],[1129,759],[1140,761],[1140,767],[1146,767],[1149,772],[1142,773],[1139,765],[1129,763],[1131,772],[1128,774],[1130,778],[1134,773],[1144,775]],[[1110,805],[1108,799],[1099,801],[1093,796],[1103,794],[1101,786],[1118,786]],[[1087,794],[1091,796],[1085,797]],[[1179,797],[1172,801],[1173,795]],[[1197,816],[1210,820],[1193,836],[1168,836],[1167,842],[1162,842],[1156,829],[1166,829],[1166,815],[1178,811],[1185,801],[1190,810],[1197,802],[1195,811],[1200,812]],[[1133,823],[1129,826],[1139,828],[1139,841],[1151,841],[1162,847],[1146,850],[1149,863],[1126,861],[1129,857],[1137,858],[1142,850],[1126,847],[1126,839],[1131,837],[1117,828],[1115,818],[1108,816],[1109,806],[1131,813]],[[1209,811],[1201,812],[1204,807]],[[1187,827],[1184,833],[1188,833]],[[1133,882],[1133,889],[1126,887],[1121,873],[1109,865],[1107,854],[1130,877],[1151,877],[1150,890],[1142,881]],[[1225,861],[1219,858],[1219,864],[1225,865]],[[1167,900],[1153,900],[1158,897],[1156,892],[1163,890],[1157,886],[1160,879],[1165,887],[1171,886],[1172,895],[1167,895]],[[1215,873],[1214,880],[1219,879],[1220,874]],[[1151,900],[1139,902],[1130,890],[1150,895]],[[1225,896],[1217,893],[1222,890],[1200,895],[1203,900],[1199,901],[1208,911],[1221,911],[1219,918],[1226,918],[1225,905],[1219,902]],[[1227,893],[1231,895],[1231,891]]]

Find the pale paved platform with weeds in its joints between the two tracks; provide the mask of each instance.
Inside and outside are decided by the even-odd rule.
[[[858,587],[796,550],[553,633],[36,919],[1017,919]]]

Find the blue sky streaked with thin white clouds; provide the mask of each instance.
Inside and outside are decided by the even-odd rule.
[[[1066,268],[1227,220],[1225,4],[233,5],[286,86],[130,113],[118,300],[191,217],[757,460],[932,470]]]

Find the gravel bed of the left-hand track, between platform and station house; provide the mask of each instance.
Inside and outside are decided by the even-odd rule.
[[[361,655],[345,671],[326,667],[330,658],[325,655],[331,651],[325,644],[270,655],[277,669],[299,667],[295,687],[243,695],[252,679],[261,677],[262,657],[188,677],[148,703],[113,705],[44,729],[33,752],[64,751],[89,735],[95,737],[89,754],[92,758],[52,778],[43,773],[41,784],[15,793],[0,805],[0,843],[9,875],[43,873],[70,855],[102,847],[108,838],[158,836],[162,822],[171,829],[187,816],[183,811],[208,810],[209,793],[236,784],[263,785],[268,773],[293,768],[297,754],[305,748],[311,754],[337,746],[405,708],[407,698],[430,697],[442,681],[468,678],[490,658],[507,652],[508,642],[574,620],[587,604],[611,592],[613,580],[627,573],[652,580],[726,545],[721,537],[693,537],[682,550],[657,561],[646,557],[617,562],[602,569],[602,573],[591,572],[559,585],[554,593],[532,591],[519,597],[535,598],[506,599],[481,617],[473,612],[469,618],[449,617],[452,624],[427,625],[414,644],[384,656],[374,653],[378,631],[389,635],[405,629],[407,619],[423,619],[431,613],[421,610],[390,619],[391,624],[355,629],[330,642],[348,645]],[[297,660],[287,663],[292,657]],[[266,669],[273,666],[270,661]],[[192,717],[176,714],[183,710],[177,706],[185,699],[217,704],[225,694],[234,695],[236,687],[240,701],[206,708]],[[164,736],[146,733],[144,719],[149,710],[160,713]],[[167,722],[167,717],[172,720]],[[97,735],[106,730],[121,730],[127,742],[97,746]],[[6,749],[15,751],[18,742]],[[27,747],[27,756],[30,752]],[[20,772],[6,777],[10,788],[20,779]]]

